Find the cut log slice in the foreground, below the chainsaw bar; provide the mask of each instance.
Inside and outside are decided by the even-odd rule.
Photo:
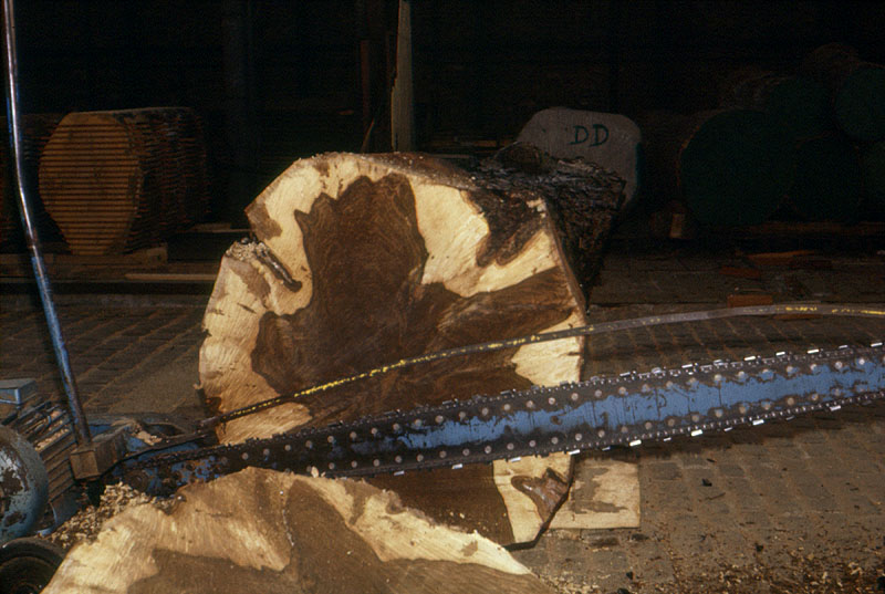
[[[545,593],[506,550],[364,482],[248,469],[110,520],[45,594]]]

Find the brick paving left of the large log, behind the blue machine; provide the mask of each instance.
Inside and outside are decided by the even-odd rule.
[[[205,303],[95,299],[56,305],[85,409],[196,414]],[[0,331],[3,377],[33,377],[41,390],[61,395],[42,311],[21,299],[0,300]]]

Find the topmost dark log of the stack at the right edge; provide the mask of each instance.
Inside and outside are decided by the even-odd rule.
[[[827,86],[845,134],[857,140],[885,138],[885,66],[864,62],[850,45],[827,43],[805,56],[801,70]]]

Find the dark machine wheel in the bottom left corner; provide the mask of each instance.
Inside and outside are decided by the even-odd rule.
[[[64,551],[40,539],[15,539],[0,546],[0,594],[38,594],[49,584]]]

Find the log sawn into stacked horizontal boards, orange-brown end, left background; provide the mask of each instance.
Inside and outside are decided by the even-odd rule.
[[[75,254],[158,244],[208,207],[200,123],[184,107],[67,114],[43,149],[40,194]]]

